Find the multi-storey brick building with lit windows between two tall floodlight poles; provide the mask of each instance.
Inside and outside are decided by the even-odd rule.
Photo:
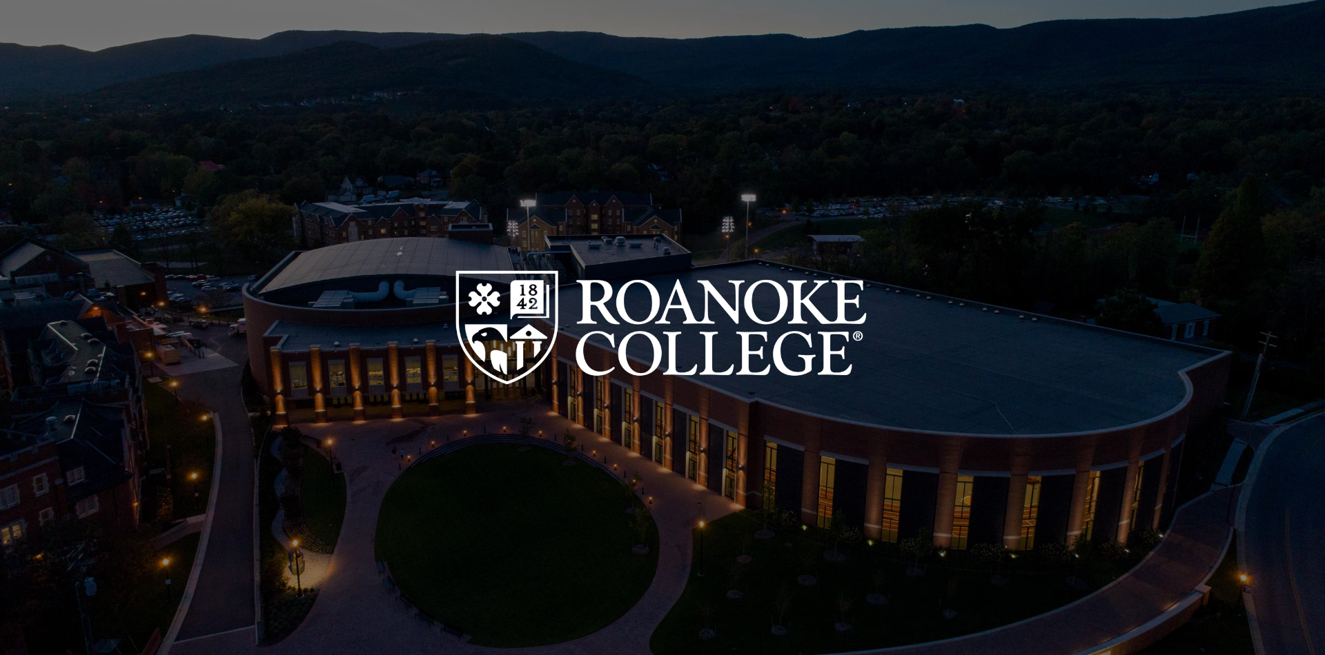
[[[538,250],[550,236],[662,236],[681,241],[681,210],[664,209],[652,193],[559,191],[535,193],[534,206],[506,209],[519,234],[514,245]]]

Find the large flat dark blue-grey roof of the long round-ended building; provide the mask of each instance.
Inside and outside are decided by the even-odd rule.
[[[714,287],[731,296],[729,281],[745,279],[742,290],[755,279],[783,283],[791,279],[825,279],[796,270],[779,270],[778,265],[742,263],[709,266],[680,274],[649,275],[666,304],[668,294],[680,279],[697,318],[702,319],[704,294],[698,281],[712,281]],[[627,281],[613,283],[619,287]],[[885,291],[888,288],[888,291]],[[592,329],[615,332],[617,344],[631,331],[647,329],[657,335],[666,349],[662,331],[681,331],[677,368],[702,368],[704,331],[718,331],[714,339],[714,369],[735,364],[739,369],[741,340],[735,331],[767,331],[768,343],[754,340],[765,348],[765,359],[751,357],[751,368],[771,365],[771,341],[792,329],[861,331],[861,341],[836,339],[835,348],[845,348],[845,359],[835,357],[835,368],[852,365],[848,376],[786,376],[771,369],[767,376],[692,376],[731,396],[762,400],[795,410],[843,418],[869,425],[966,434],[1059,434],[1100,430],[1136,423],[1163,414],[1177,406],[1186,388],[1179,371],[1218,356],[1216,351],[1186,347],[1155,339],[1113,332],[1051,319],[1031,320],[1026,314],[967,302],[966,307],[947,304],[947,299],[916,298],[916,291],[872,284],[860,292],[860,308],[868,315],[860,326],[819,326],[814,318],[807,326],[759,326],[745,322],[734,326],[730,316],[713,303],[713,326],[680,326],[684,319],[673,310],[670,326],[606,324],[598,311],[598,326],[578,326],[582,311],[580,286],[560,290],[562,339],[578,339]],[[851,291],[851,290],[848,290]],[[835,288],[824,286],[812,296],[814,304],[828,318],[835,316]],[[755,295],[755,312],[763,318],[776,314],[776,296],[767,286]],[[615,296],[608,304],[613,308]],[[988,311],[982,311],[988,307]],[[636,319],[649,311],[645,290],[632,287],[627,310]],[[852,318],[860,314],[848,312]],[[591,343],[610,348],[602,336]],[[822,343],[808,348],[791,337],[783,348],[783,360],[791,369],[803,368],[796,355],[818,355],[822,368]],[[631,340],[631,359],[640,360],[636,369],[645,369],[653,359],[644,339]],[[572,353],[563,341],[560,352]],[[572,355],[568,355],[568,357]],[[664,355],[662,368],[666,367]],[[620,373],[619,371],[613,374]],[[692,408],[697,409],[697,408]]]

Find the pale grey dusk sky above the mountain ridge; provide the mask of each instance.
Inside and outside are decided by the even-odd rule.
[[[44,0],[12,1],[0,42],[95,50],[180,34],[260,38],[286,29],[502,33],[587,30],[705,37],[1055,19],[1181,17],[1275,0]]]

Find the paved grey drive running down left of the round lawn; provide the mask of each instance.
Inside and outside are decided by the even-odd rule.
[[[242,339],[228,337],[223,329],[213,328],[201,336],[208,348],[238,367],[180,377],[180,396],[205,402],[216,412],[221,422],[223,449],[207,552],[176,643],[254,625],[253,430],[240,394],[240,376],[248,351]],[[171,650],[186,651],[183,644]]]

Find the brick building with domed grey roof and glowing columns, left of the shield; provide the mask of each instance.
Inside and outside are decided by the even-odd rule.
[[[450,298],[457,270],[518,266],[515,249],[454,238],[292,253],[244,288],[249,361],[277,423],[474,414],[480,398],[533,394],[534,374],[507,386],[474,371]]]

